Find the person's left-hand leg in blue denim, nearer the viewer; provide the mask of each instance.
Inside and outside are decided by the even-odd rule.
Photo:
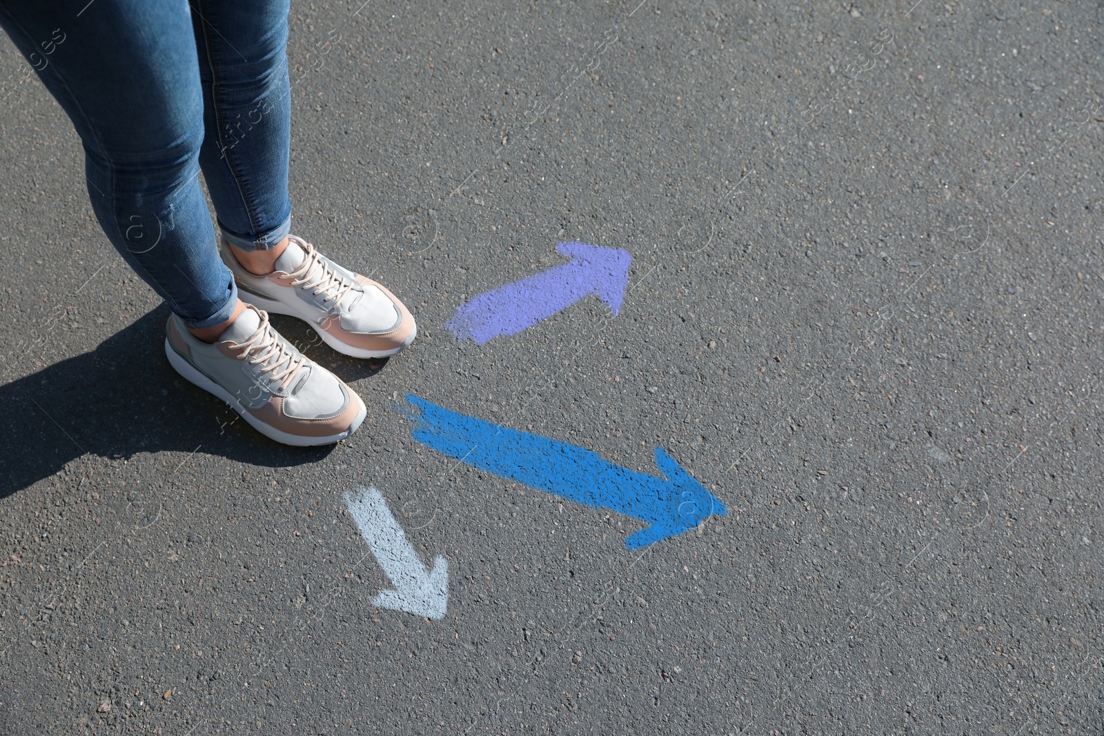
[[[189,328],[237,303],[198,181],[203,95],[188,0],[0,0],[73,121],[104,233]]]

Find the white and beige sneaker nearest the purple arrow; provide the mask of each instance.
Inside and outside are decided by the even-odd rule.
[[[225,243],[219,250],[234,275],[242,301],[298,317],[339,353],[386,358],[417,335],[414,317],[395,295],[342,268],[295,235],[288,236],[287,249],[267,276],[247,270]]]

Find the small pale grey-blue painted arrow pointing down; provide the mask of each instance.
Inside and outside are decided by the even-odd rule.
[[[374,486],[358,488],[346,493],[344,499],[361,536],[395,586],[394,590],[382,590],[372,605],[432,619],[444,618],[448,607],[448,561],[437,555],[433,569],[426,570]]]

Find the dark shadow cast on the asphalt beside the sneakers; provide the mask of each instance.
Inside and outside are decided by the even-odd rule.
[[[164,358],[161,306],[94,351],[0,386],[0,499],[86,454],[193,452],[262,467],[316,462],[333,449],[288,447],[253,429],[225,403],[184,381]],[[359,361],[311,341],[309,327],[274,320],[293,344],[344,381],[379,373],[386,359]]]

